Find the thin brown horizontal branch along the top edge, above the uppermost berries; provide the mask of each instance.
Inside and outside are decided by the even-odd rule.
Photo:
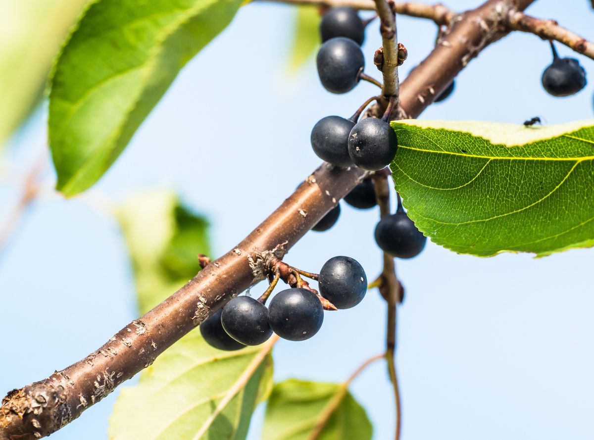
[[[293,5],[312,5],[325,8],[351,7],[362,11],[375,11],[374,0],[260,0],[273,1],[278,3],[288,3]],[[416,18],[427,18],[435,21],[438,25],[448,25],[456,12],[448,9],[441,3],[435,5],[425,5],[416,2],[399,2],[393,5],[396,14],[409,15]]]

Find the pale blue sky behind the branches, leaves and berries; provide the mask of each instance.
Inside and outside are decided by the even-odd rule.
[[[450,1],[463,10],[479,0]],[[530,13],[555,17],[594,39],[587,0],[540,0]],[[102,201],[121,200],[147,186],[168,186],[212,222],[217,255],[230,249],[293,191],[320,160],[309,145],[323,116],[349,116],[374,93],[323,90],[314,63],[288,75],[292,13],[253,4],[181,72],[115,166],[89,194],[63,200],[46,191],[0,261],[0,394],[42,379],[99,347],[134,319],[131,268],[118,227]],[[435,26],[399,17],[409,51],[404,77],[429,52]],[[368,30],[366,72],[380,46]],[[571,51],[558,45],[560,54]],[[571,55],[573,56],[573,55]],[[548,124],[592,118],[594,64],[579,56],[590,83],[574,97],[542,90],[551,61],[548,44],[516,33],[491,46],[456,80],[450,100],[426,119],[522,123],[539,115]],[[14,140],[18,170],[43,148],[40,112]],[[10,176],[10,175],[9,175]],[[46,176],[48,185],[53,174]],[[14,200],[6,179],[0,206]],[[380,271],[372,238],[377,212],[342,204],[339,223],[308,233],[286,261],[318,271],[334,255],[349,255],[368,278]],[[7,211],[7,210],[6,210]],[[474,258],[432,243],[398,261],[406,286],[399,309],[398,368],[403,439],[591,439],[594,432],[594,250],[543,259],[530,255]],[[384,303],[375,291],[354,309],[326,314],[320,333],[302,343],[281,341],[275,376],[342,381],[384,345]],[[374,439],[393,436],[393,401],[386,369],[370,368],[353,392],[374,423]],[[55,433],[55,440],[105,440],[112,394]],[[263,408],[249,440],[259,438]]]

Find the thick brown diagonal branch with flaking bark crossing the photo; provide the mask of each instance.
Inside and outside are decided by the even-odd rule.
[[[532,1],[516,0],[517,9],[523,10]],[[408,117],[415,118],[432,101],[421,101],[419,96],[430,89],[435,93],[436,87],[437,91],[443,90],[468,59],[503,36],[505,30],[484,30],[483,25],[500,24],[501,20],[492,18],[501,11],[507,14],[512,3],[489,0],[467,13],[462,21],[456,21],[441,45],[402,83],[400,105]],[[323,164],[239,245],[208,264],[146,315],[122,328],[100,349],[49,378],[9,392],[0,407],[0,440],[33,440],[49,435],[149,366],[211,312],[264,278],[261,265],[252,255],[282,258],[355,188],[363,175],[356,167],[339,169]]]

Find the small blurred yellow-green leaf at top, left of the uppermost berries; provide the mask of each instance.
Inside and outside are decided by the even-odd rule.
[[[296,9],[289,61],[291,71],[301,68],[320,45],[320,12],[311,6]]]

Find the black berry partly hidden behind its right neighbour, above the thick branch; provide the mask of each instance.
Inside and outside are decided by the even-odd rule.
[[[349,156],[350,130],[355,122],[340,116],[326,116],[320,119],[311,131],[311,147],[314,153],[326,162],[337,166],[353,166]]]

